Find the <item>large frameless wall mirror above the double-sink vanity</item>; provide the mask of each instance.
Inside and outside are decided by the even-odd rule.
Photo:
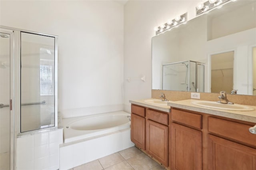
[[[231,1],[154,36],[152,89],[256,95],[256,1]]]

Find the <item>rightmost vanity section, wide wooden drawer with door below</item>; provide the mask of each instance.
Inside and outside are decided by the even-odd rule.
[[[208,170],[256,170],[256,135],[240,122],[208,117]]]

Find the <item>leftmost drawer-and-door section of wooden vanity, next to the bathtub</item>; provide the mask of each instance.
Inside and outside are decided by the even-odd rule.
[[[145,108],[132,105],[131,140],[139,148],[145,150]]]

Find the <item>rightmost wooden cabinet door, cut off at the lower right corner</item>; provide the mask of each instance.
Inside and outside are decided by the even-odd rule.
[[[208,170],[256,170],[256,149],[208,134]]]

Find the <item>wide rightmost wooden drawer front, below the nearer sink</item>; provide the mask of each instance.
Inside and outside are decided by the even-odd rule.
[[[251,126],[208,117],[208,131],[256,146],[256,135],[249,132]]]

